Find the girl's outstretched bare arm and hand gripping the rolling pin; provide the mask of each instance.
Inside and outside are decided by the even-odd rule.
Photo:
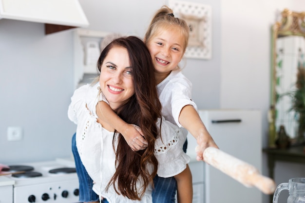
[[[179,123],[187,129],[197,140],[197,161],[203,160],[203,151],[208,147],[218,148],[212,136],[203,124],[198,112],[193,106],[187,105],[182,108],[179,115]]]

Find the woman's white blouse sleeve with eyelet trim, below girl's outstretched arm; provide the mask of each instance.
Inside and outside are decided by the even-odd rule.
[[[154,149],[158,160],[157,174],[168,178],[181,173],[191,158],[183,152],[184,140],[180,128],[163,119],[160,133],[161,137],[156,140]]]

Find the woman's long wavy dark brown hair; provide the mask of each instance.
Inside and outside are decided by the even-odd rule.
[[[124,47],[129,53],[135,93],[127,103],[114,111],[125,122],[135,124],[142,129],[148,147],[133,151],[124,137],[119,134],[115,153],[116,171],[107,185],[107,190],[113,185],[116,193],[132,200],[140,200],[147,186],[153,185],[153,177],[157,172],[158,162],[153,152],[154,142],[159,134],[156,122],[161,117],[161,104],[156,91],[151,55],[144,42],[138,37],[121,37],[112,41],[98,59],[99,73],[104,58],[115,46]],[[143,182],[143,187],[137,188],[138,181]]]

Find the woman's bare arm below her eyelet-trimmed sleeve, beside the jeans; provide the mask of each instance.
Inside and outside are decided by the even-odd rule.
[[[177,202],[178,203],[192,203],[193,200],[193,186],[191,180],[191,170],[189,165],[187,168],[175,175],[177,181]]]

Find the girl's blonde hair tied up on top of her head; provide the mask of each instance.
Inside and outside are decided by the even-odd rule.
[[[150,39],[155,35],[157,35],[159,32],[166,29],[172,29],[173,26],[178,27],[179,28],[178,30],[180,31],[180,33],[175,33],[175,34],[180,34],[181,36],[184,36],[184,43],[183,43],[183,54],[184,54],[189,43],[190,29],[186,21],[180,18],[175,18],[172,9],[166,5],[162,6],[154,14],[144,37],[145,44],[147,45]]]

